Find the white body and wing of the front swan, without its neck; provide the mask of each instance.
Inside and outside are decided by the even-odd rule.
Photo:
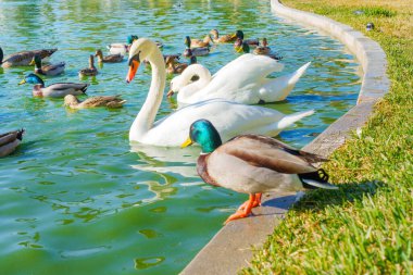
[[[142,140],[138,141],[157,146],[179,146],[187,139],[190,125],[200,118],[211,121],[223,141],[239,134],[275,136],[281,130],[279,124],[284,127],[309,114],[285,116],[267,108],[213,99],[182,108],[155,122]]]

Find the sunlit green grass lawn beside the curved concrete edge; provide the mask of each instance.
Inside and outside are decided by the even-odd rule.
[[[413,4],[406,2],[284,1],[378,41],[391,88],[360,137],[354,134],[324,166],[340,190],[308,193],[242,274],[413,273]],[[375,30],[365,30],[367,22]]]

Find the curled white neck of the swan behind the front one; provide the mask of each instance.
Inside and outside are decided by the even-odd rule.
[[[199,79],[183,87],[178,93],[179,99],[187,99],[193,96],[199,90],[208,86],[212,79],[210,71],[200,64],[193,64],[187,67],[184,71],[182,76],[183,76],[183,82],[188,83],[188,84],[190,83],[193,76],[198,76]]]

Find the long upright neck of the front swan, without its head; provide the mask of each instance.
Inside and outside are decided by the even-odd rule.
[[[162,53],[154,49],[147,57],[152,67],[152,80],[148,97],[130,127],[129,139],[137,140],[149,132],[162,103],[166,71]]]

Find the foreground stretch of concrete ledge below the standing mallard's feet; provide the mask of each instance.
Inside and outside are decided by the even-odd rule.
[[[182,272],[185,275],[236,274],[252,257],[252,245],[264,243],[296,196],[264,195],[254,215],[224,226]]]

